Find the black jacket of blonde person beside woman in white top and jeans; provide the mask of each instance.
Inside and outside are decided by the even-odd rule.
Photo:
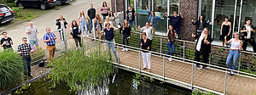
[[[203,32],[201,32],[203,33]],[[199,37],[201,36],[201,33],[198,33],[195,38],[197,39],[196,45],[195,45],[195,50],[196,50],[196,46],[197,43],[199,41]],[[212,43],[212,37],[210,36],[210,34],[208,34],[207,36],[207,41],[210,42],[210,44],[207,44],[204,42],[204,39],[201,41],[201,48],[200,48],[200,53],[202,54],[207,54],[207,53],[211,53],[211,43]]]

